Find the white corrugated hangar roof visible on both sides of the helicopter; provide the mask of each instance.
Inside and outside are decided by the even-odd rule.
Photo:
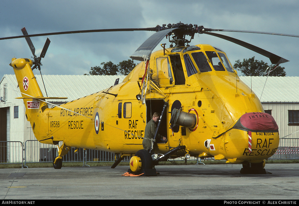
[[[39,87],[45,96],[41,75],[35,75]],[[65,100],[52,102],[68,102],[80,97],[97,93],[114,85],[123,75],[43,75],[48,96],[68,97]],[[17,85],[15,75],[4,75],[3,78],[12,85]],[[261,102],[299,102],[299,77],[250,77],[240,76],[240,79],[251,87]]]

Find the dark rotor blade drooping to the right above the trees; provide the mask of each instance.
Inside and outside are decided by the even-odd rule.
[[[271,52],[268,52],[264,49],[261,49],[257,46],[254,46],[252,44],[249,44],[249,43],[246,43],[246,42],[243,42],[241,40],[238,40],[238,39],[235,39],[235,38],[232,38],[232,37],[228,37],[228,36],[225,36],[225,35],[222,35],[222,34],[215,34],[215,33],[211,33],[211,32],[203,32],[204,34],[209,34],[209,35],[212,35],[212,36],[215,36],[215,37],[219,37],[219,38],[222,38],[222,39],[225,39],[225,40],[228,40],[230,42],[233,42],[233,43],[236,43],[240,46],[243,46],[247,49],[250,49],[254,52],[257,52],[259,54],[262,54],[263,56],[265,57],[268,57],[271,61],[272,64],[280,64],[280,63],[285,63],[285,62],[288,62],[289,60],[286,60],[280,56],[277,56],[276,54],[272,54]]]

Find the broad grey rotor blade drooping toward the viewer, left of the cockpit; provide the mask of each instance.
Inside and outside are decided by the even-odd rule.
[[[141,46],[130,56],[134,60],[144,61],[149,59],[152,54],[152,50],[158,45],[158,43],[171,31],[178,28],[171,28],[166,30],[161,30],[150,36]]]

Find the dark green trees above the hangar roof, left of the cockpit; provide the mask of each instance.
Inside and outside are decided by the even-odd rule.
[[[91,67],[89,75],[128,75],[136,66],[133,60],[130,59],[121,61],[118,65],[111,61],[102,62],[101,65],[103,65],[103,68],[100,66]]]

